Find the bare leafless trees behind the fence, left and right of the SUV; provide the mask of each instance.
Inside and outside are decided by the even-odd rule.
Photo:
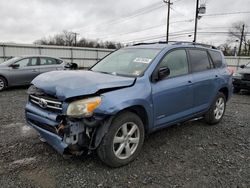
[[[250,39],[248,26],[244,22],[232,24],[228,30],[228,39],[225,43],[218,46],[225,56],[250,56]],[[77,40],[77,33],[63,31],[54,36],[44,37],[36,40],[39,45],[57,45],[57,46],[78,46],[90,48],[108,48],[119,49],[123,47],[120,42],[99,41],[86,38]]]

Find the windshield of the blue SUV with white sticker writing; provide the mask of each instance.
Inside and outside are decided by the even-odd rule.
[[[106,74],[137,77],[160,52],[160,49],[127,48],[118,50],[92,67],[92,71]]]

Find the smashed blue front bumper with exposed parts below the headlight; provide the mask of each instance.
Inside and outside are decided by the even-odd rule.
[[[48,112],[28,102],[25,107],[27,123],[60,154],[81,154],[98,147],[107,132],[110,117],[70,119]]]

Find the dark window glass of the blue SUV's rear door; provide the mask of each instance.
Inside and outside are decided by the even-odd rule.
[[[211,69],[211,64],[207,51],[189,50],[190,63],[192,72],[200,72]]]

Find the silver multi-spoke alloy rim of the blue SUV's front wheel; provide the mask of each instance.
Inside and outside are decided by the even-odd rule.
[[[133,122],[123,124],[113,139],[113,152],[119,159],[127,159],[136,151],[140,140],[140,131]]]

